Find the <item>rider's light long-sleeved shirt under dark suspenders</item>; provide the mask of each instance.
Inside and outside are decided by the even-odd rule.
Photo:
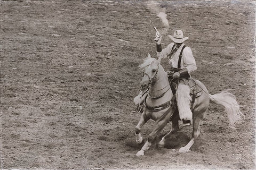
[[[182,45],[177,49],[177,52],[175,52],[172,56],[169,56],[168,58],[169,63],[174,68],[178,68],[179,55],[184,45],[185,44],[182,43]],[[166,58],[171,53],[173,46],[174,46],[174,43],[171,43],[166,48],[164,48],[162,52],[156,52],[157,57]],[[196,61],[190,47],[185,47],[182,52],[180,69],[185,69],[185,68],[188,70],[188,73],[191,73],[196,70]]]

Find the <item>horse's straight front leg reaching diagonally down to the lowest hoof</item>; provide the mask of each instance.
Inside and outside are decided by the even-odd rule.
[[[159,132],[161,132],[164,129],[165,125],[167,124],[167,122],[169,122],[169,120],[170,114],[166,115],[166,117],[163,118],[163,120],[156,123],[155,129],[148,135],[147,142],[143,145],[141,150],[137,152],[136,156],[139,157],[145,155],[145,151],[147,151],[151,147],[152,142],[155,139],[156,135],[159,134]]]

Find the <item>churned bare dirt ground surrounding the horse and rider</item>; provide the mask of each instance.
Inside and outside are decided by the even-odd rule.
[[[1,169],[254,169],[255,3],[253,1],[1,1]],[[134,128],[138,65],[156,57],[156,26],[182,29],[210,94],[230,89],[244,122],[228,127],[211,104],[201,136],[180,153],[154,145],[144,157]],[[166,60],[162,61],[168,70]],[[143,137],[154,121],[142,128]],[[171,123],[159,134],[169,132]],[[159,141],[156,139],[156,142]],[[181,141],[181,142],[179,142]]]

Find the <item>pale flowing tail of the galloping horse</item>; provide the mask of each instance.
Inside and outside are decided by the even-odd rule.
[[[215,104],[220,104],[225,107],[225,112],[228,115],[231,128],[235,128],[235,123],[240,121],[244,114],[240,111],[240,105],[236,101],[236,97],[228,90],[222,91],[215,95],[210,95],[210,100]]]

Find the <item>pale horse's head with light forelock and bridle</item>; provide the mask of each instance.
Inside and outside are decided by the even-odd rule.
[[[156,60],[156,58],[151,58],[150,54],[145,59],[144,63],[139,65],[143,69],[143,77],[140,82],[141,90],[146,90],[150,86],[153,86],[158,80],[158,71],[161,58]]]

